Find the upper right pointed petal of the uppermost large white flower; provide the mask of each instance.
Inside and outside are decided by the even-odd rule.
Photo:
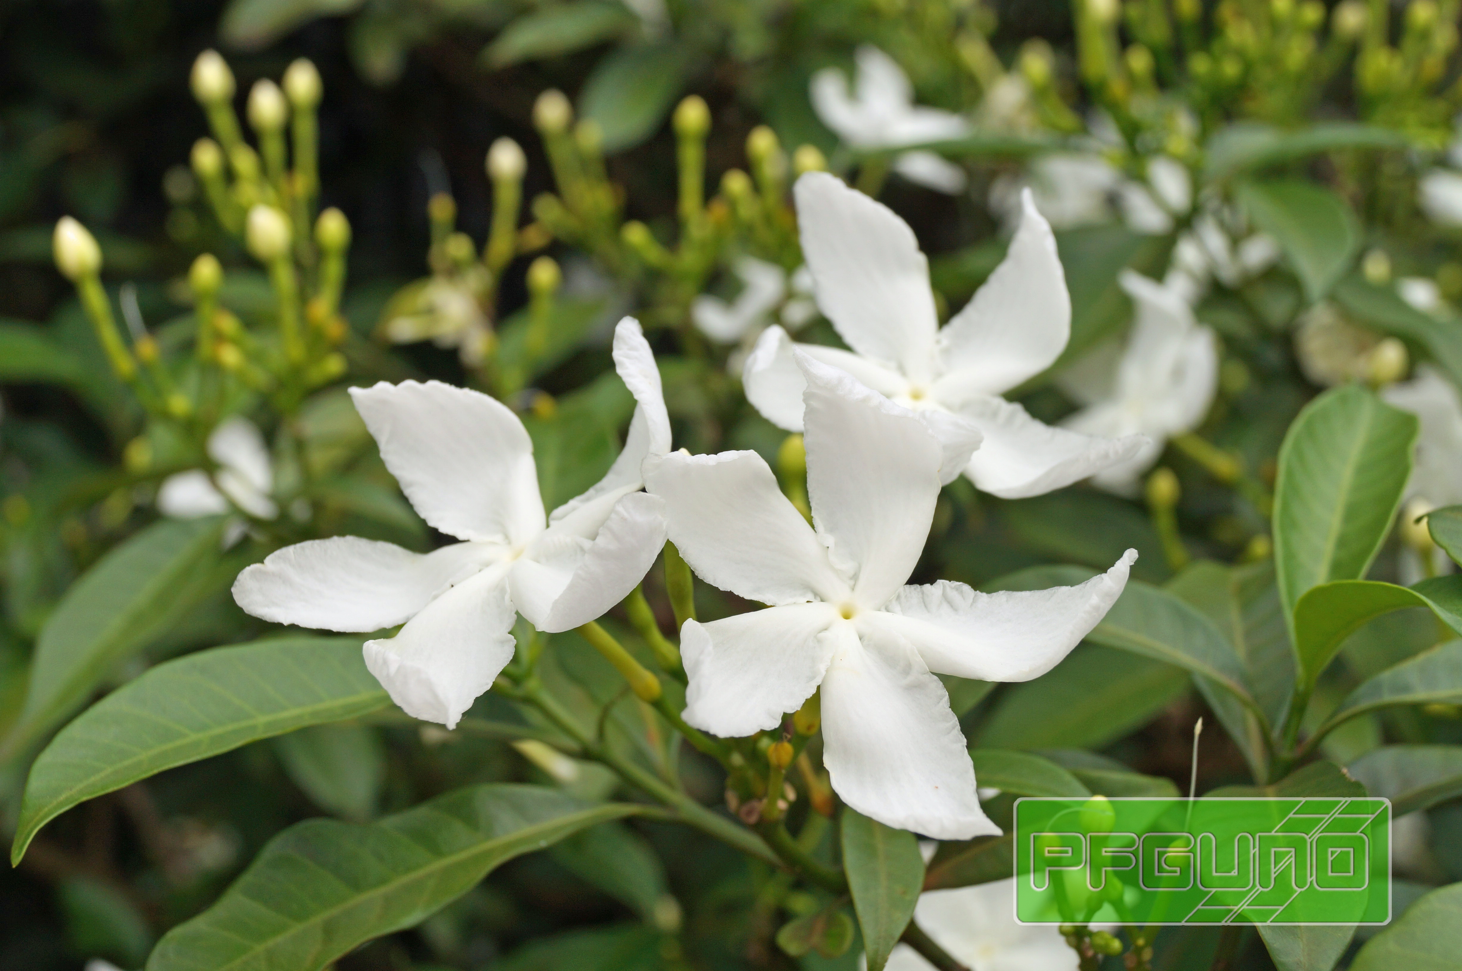
[[[1050,367],[1072,336],[1072,295],[1056,253],[1056,237],[1037,212],[1031,190],[1020,193],[1023,215],[1006,257],[974,298],[939,333],[942,386],[999,395]]]

